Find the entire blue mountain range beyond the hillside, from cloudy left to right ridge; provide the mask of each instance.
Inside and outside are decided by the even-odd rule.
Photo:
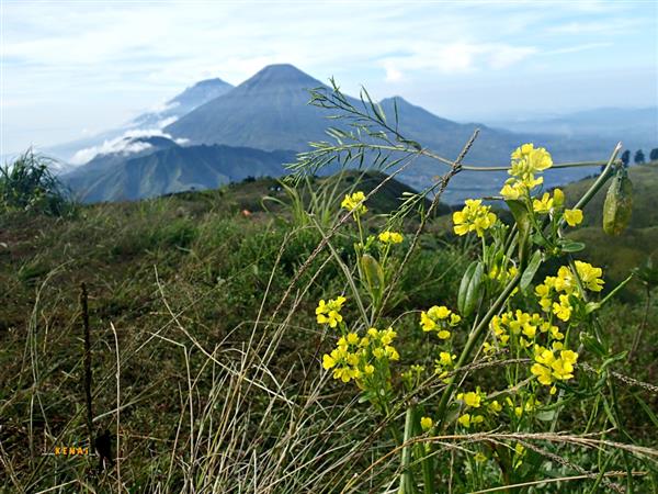
[[[191,110],[177,116],[178,120],[173,123],[158,130],[157,135],[164,141],[147,141],[139,135],[120,136],[112,142],[113,146],[106,146],[106,150],[101,149],[88,165],[71,173],[71,183],[76,187],[84,186],[86,191],[93,189],[93,193],[87,194],[91,198],[89,200],[114,200],[113,198],[136,199],[139,194],[150,197],[184,190],[185,187],[216,187],[218,180],[239,180],[261,171],[279,176],[285,172],[284,162],[294,161],[294,151],[309,149],[308,143],[313,141],[331,141],[326,133],[327,127],[344,125],[341,120],[328,119],[336,112],[308,104],[309,89],[330,89],[292,65],[266,66],[239,86],[227,86],[218,79],[194,85],[170,100],[171,111],[182,111],[183,108]],[[356,106],[362,104],[358,99],[347,98]],[[196,104],[201,101],[203,102]],[[394,106],[397,106],[399,131],[404,136],[449,159],[457,157],[462,147],[478,128],[478,138],[465,159],[466,164],[477,166],[508,165],[512,150],[527,142],[546,147],[556,162],[603,160],[616,144],[616,138],[610,136],[579,138],[549,133],[514,133],[483,124],[457,123],[434,115],[400,97],[384,99],[381,105],[389,119],[394,115]],[[158,117],[166,116],[166,111],[167,109],[158,113]],[[141,122],[149,122],[149,119],[151,117],[147,114]],[[164,143],[167,145],[163,148]],[[201,151],[200,146],[205,146],[205,150]],[[208,151],[215,146],[225,149],[224,158],[228,148],[242,150],[231,151],[231,159],[227,161],[219,154]],[[279,149],[290,151],[286,151],[286,159],[282,159],[276,166],[264,156],[260,156],[260,161],[246,158],[253,157],[256,150],[279,153]],[[149,158],[150,155],[157,156]],[[282,158],[281,155],[276,156]],[[368,166],[371,161],[372,159],[366,159],[364,166]],[[128,168],[128,162],[132,167],[137,165],[140,173],[134,173]],[[265,162],[266,165],[263,165]],[[148,170],[139,168],[146,167],[146,164]],[[122,171],[117,175],[113,167]],[[183,173],[184,167],[190,167],[193,172]],[[198,175],[197,171],[204,167],[212,168],[213,172]],[[254,167],[253,172],[250,167]],[[99,186],[100,170],[104,170],[103,172],[131,192],[122,195],[109,179],[102,180],[103,186]],[[154,170],[159,170],[167,179],[156,180]],[[547,187],[557,186],[580,179],[595,170],[549,170],[546,172],[545,182]],[[336,168],[322,171],[333,172]],[[415,189],[422,190],[445,171],[445,165],[421,157],[399,177]],[[84,175],[91,178],[81,179]],[[134,186],[127,177],[141,184]],[[201,180],[203,177],[207,179],[205,182]],[[504,171],[463,171],[453,179],[442,199],[447,203],[457,203],[468,197],[492,195],[500,190],[506,178],[508,175]],[[144,184],[145,180],[148,184]],[[95,183],[93,188],[92,183]]]

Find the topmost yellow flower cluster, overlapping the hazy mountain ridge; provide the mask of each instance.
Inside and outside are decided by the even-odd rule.
[[[535,178],[535,173],[553,166],[551,154],[543,147],[523,144],[512,153],[512,167],[508,171],[512,178],[504,182],[500,194],[504,199],[520,199],[529,191],[544,182],[544,178]]]

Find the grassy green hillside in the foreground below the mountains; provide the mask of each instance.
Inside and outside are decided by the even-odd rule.
[[[310,184],[316,193],[336,190],[329,201],[336,221],[345,192],[371,191],[383,179],[351,171],[338,183],[322,177]],[[382,231],[406,192],[412,191],[392,180],[368,200],[366,234]],[[299,194],[308,201],[310,191]],[[398,333],[400,369],[419,362],[432,369],[433,340],[418,325],[419,307],[455,307],[473,259],[472,244],[452,237],[446,224],[445,215],[434,218],[421,235],[383,314]],[[400,225],[407,239],[398,252],[406,251],[416,226],[415,220]],[[324,249],[311,258],[322,236],[295,221],[294,204],[273,179],[83,205],[67,217],[1,216],[0,382],[7,385],[0,386],[0,491],[60,486],[104,493],[115,492],[121,480],[131,492],[191,493],[203,485],[208,492],[333,493],[367,472],[396,445],[386,424],[360,401],[363,394],[324,372],[321,355],[338,329],[318,326],[315,313],[320,299],[339,293],[352,299],[343,266],[355,263],[355,231],[349,222],[330,240],[336,255]],[[81,282],[89,292],[93,428],[109,430],[113,445],[120,440],[121,479],[114,465],[98,473],[95,457],[53,452],[57,445],[87,441]],[[345,321],[359,317],[351,302],[342,311]],[[645,334],[656,334],[655,303],[645,310],[644,300],[615,301],[602,311],[613,351],[632,346],[643,315]],[[467,332],[455,330],[456,340],[463,343]],[[656,382],[658,375],[650,348],[614,366],[642,381]],[[466,384],[504,388],[501,374],[484,382],[468,377]],[[399,385],[397,374],[395,380]],[[585,390],[590,381],[579,369],[574,385]],[[435,383],[430,391],[442,389]],[[638,400],[650,412],[656,396],[627,386],[617,400],[625,416],[633,413],[625,430],[651,446],[653,415],[638,413]],[[404,424],[404,415],[395,413],[393,419]],[[605,416],[599,419],[592,420],[610,428]],[[558,430],[581,430],[587,422],[583,411],[570,406]],[[606,439],[617,436],[606,433]],[[567,451],[569,461],[597,471],[595,453],[561,446],[542,445],[553,458]],[[441,464],[452,464],[452,453],[442,454]],[[532,453],[524,458],[530,463]],[[554,467],[564,469],[556,475],[571,472],[569,465]],[[390,482],[398,468],[390,457],[368,482]],[[455,465],[455,476],[467,469]],[[495,479],[492,469],[483,475]],[[578,490],[569,492],[587,492],[588,482],[571,483]],[[351,492],[374,489],[370,485]],[[648,480],[643,487],[651,487]],[[560,492],[561,485],[557,489],[546,492]]]

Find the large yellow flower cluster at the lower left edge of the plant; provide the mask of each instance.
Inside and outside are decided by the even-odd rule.
[[[322,356],[322,367],[333,370],[333,379],[342,382],[354,380],[363,388],[364,381],[384,362],[399,360],[400,356],[392,345],[396,336],[393,328],[378,330],[372,327],[363,337],[348,333],[338,340],[330,353]]]

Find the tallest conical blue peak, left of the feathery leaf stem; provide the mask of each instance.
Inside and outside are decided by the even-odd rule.
[[[194,144],[306,149],[329,125],[328,112],[308,104],[307,90],[321,86],[292,65],[270,65],[164,132]]]

